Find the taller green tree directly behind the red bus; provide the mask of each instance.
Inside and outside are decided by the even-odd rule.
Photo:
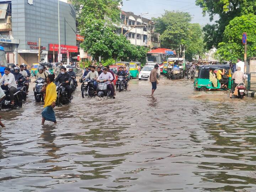
[[[161,47],[175,49],[181,54],[187,40],[191,15],[187,12],[165,11],[162,17],[153,18],[156,32],[160,33]],[[180,49],[181,47],[181,49]]]

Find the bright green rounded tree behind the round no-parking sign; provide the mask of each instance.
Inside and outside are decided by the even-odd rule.
[[[244,45],[242,44],[242,33],[247,33],[247,57],[256,55],[256,15],[242,15],[235,17],[226,26],[223,42],[218,44],[217,56],[220,60],[235,62],[244,56]]]

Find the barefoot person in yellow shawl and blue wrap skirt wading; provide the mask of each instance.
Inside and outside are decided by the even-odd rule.
[[[46,87],[46,96],[44,99],[44,110],[42,112],[42,125],[46,121],[51,121],[57,124],[53,108],[57,98],[56,85],[53,83],[54,75],[47,76],[48,85]]]

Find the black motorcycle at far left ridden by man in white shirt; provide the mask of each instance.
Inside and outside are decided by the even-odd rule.
[[[5,93],[5,98],[0,103],[0,109],[12,109],[12,108],[22,108],[22,91],[25,89],[23,87],[17,87],[17,92],[14,94],[14,105],[10,105],[10,94],[8,86],[1,86]]]

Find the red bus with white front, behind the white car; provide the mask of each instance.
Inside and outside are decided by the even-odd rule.
[[[175,50],[164,48],[154,49],[147,53],[146,65],[155,65],[156,63],[158,63],[160,71],[162,73],[164,62],[167,62],[168,58],[176,58]]]

